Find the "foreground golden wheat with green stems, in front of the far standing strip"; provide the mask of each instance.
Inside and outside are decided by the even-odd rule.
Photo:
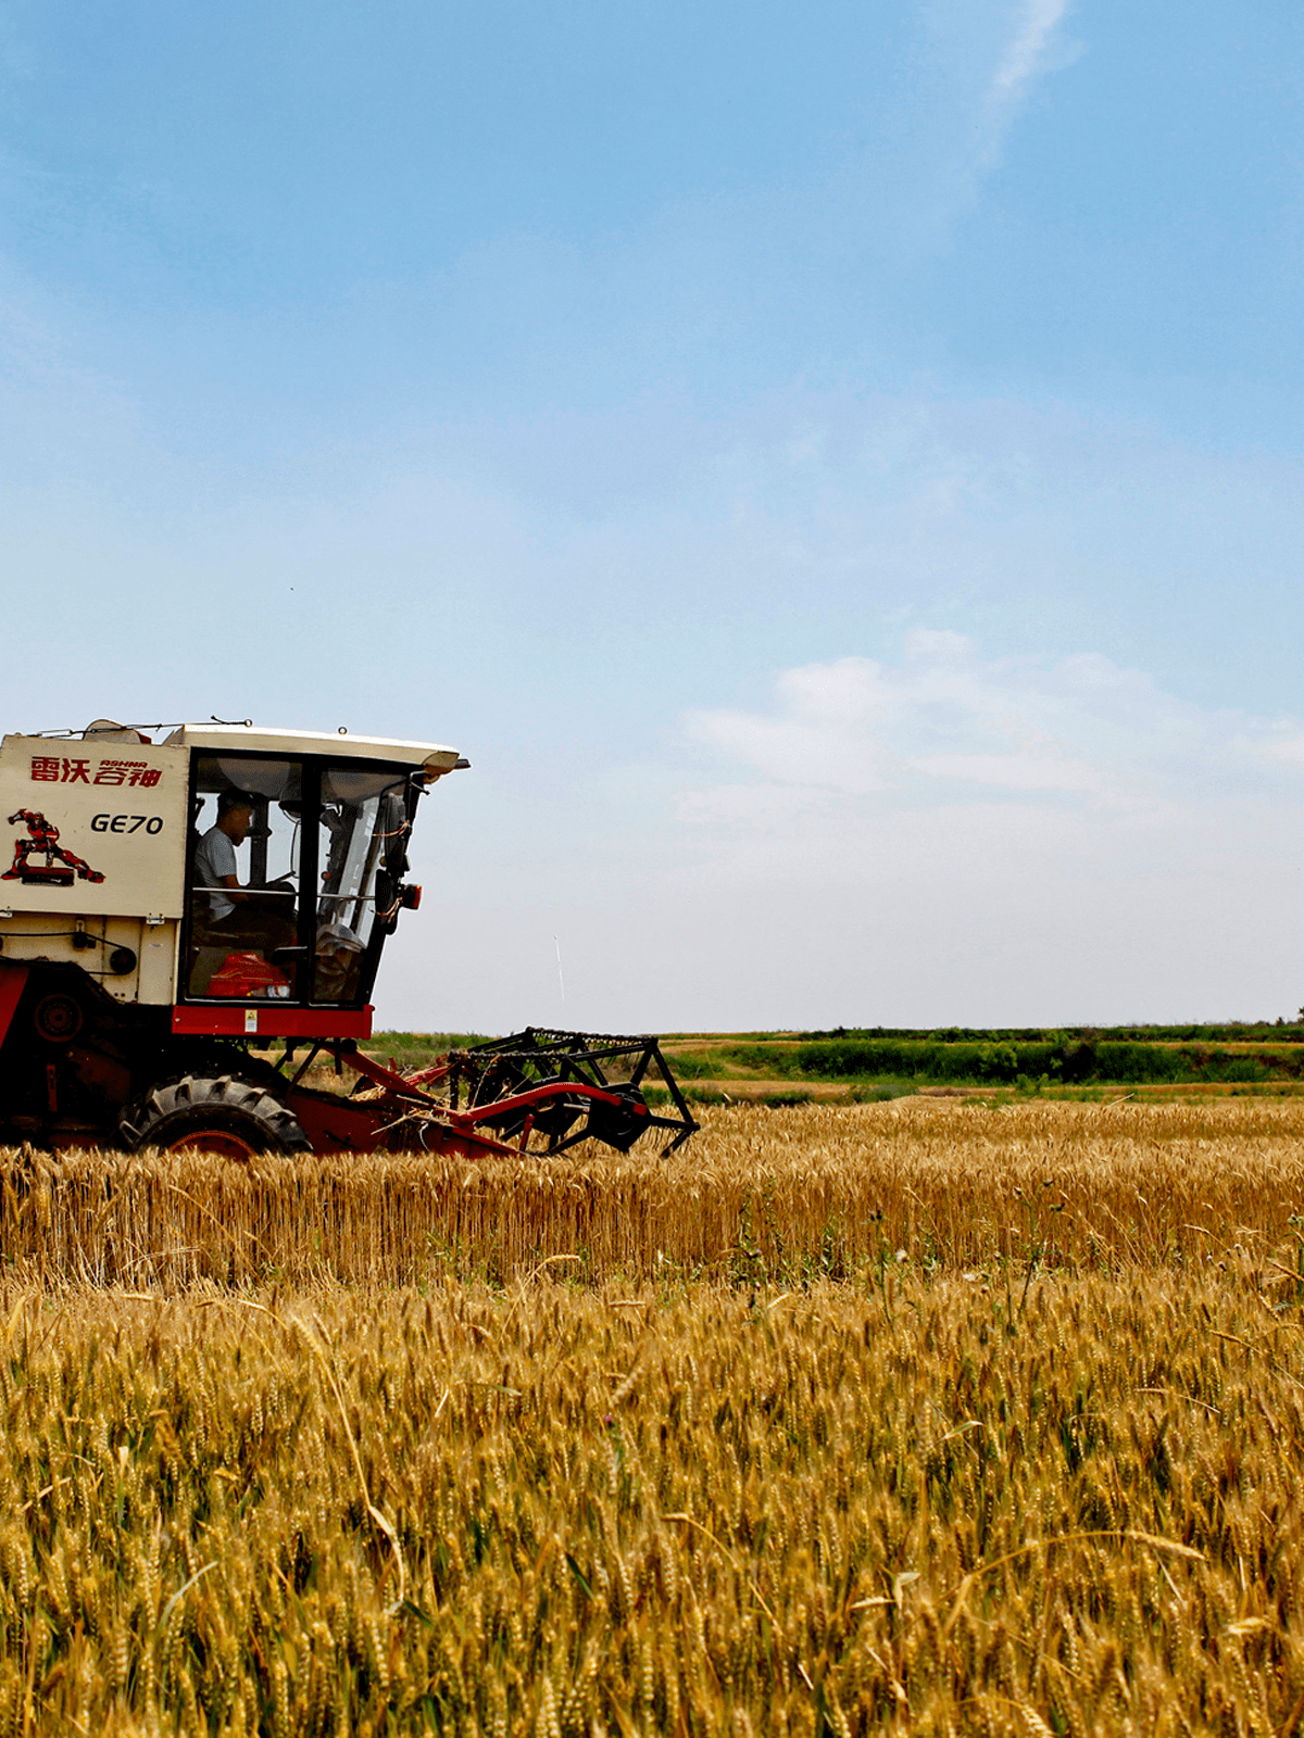
[[[0,1300],[0,1729],[1285,1733],[1243,1274]]]

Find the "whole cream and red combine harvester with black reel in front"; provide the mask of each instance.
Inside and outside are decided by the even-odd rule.
[[[365,1057],[419,799],[456,749],[101,720],[0,746],[0,1142],[468,1158],[697,1128],[654,1038]],[[9,862],[12,846],[12,862]],[[247,853],[245,853],[247,846]],[[268,1060],[259,1051],[276,1051]],[[329,1057],[351,1095],[304,1079]],[[668,1095],[655,1114],[643,1086]]]

